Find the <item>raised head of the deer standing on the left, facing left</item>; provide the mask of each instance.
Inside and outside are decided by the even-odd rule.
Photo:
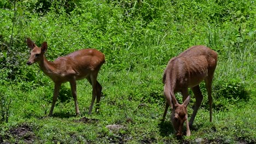
[[[42,47],[40,48],[34,44],[30,38],[27,38],[27,46],[31,49],[30,58],[27,61],[27,65],[41,61],[48,47],[46,41],[43,42]]]

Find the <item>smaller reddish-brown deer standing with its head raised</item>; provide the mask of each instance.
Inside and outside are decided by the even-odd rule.
[[[101,99],[102,86],[97,81],[97,75],[101,65],[105,62],[103,53],[95,49],[83,49],[69,53],[67,56],[59,57],[54,62],[49,62],[44,57],[44,53],[48,47],[46,41],[43,42],[42,47],[40,48],[34,44],[30,38],[27,38],[27,46],[31,49],[27,65],[38,63],[44,74],[49,76],[55,84],[53,103],[51,104],[49,116],[53,115],[61,83],[67,81],[71,85],[72,96],[75,103],[75,113],[79,115],[76,81],[84,78],[86,78],[92,86],[92,100],[89,114],[91,114],[95,98],[97,98],[96,112],[98,111],[100,107],[99,102]]]

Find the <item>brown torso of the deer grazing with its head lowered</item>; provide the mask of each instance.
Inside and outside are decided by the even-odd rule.
[[[194,87],[205,79],[217,64],[217,53],[206,46],[193,46],[173,57],[164,71],[163,83],[168,83],[174,93],[181,88]]]

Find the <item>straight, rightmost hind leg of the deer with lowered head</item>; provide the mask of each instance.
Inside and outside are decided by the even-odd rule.
[[[210,104],[210,122],[212,122],[212,79],[213,74],[208,74],[205,78],[205,86],[208,94],[208,101]]]

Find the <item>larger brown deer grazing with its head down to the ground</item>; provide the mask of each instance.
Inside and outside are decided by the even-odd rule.
[[[164,95],[166,98],[163,120],[165,120],[168,107],[171,106],[171,122],[176,135],[182,135],[183,123],[186,121],[187,136],[190,136],[189,127],[193,125],[197,110],[201,105],[203,95],[199,88],[199,83],[205,80],[205,85],[210,104],[210,122],[212,122],[212,79],[217,65],[218,55],[206,46],[192,46],[182,52],[179,56],[173,57],[168,62],[164,71],[162,82]],[[195,108],[188,123],[187,106],[190,101],[188,88],[191,88],[195,95]],[[175,98],[175,93],[181,92],[183,104],[179,104]]]

